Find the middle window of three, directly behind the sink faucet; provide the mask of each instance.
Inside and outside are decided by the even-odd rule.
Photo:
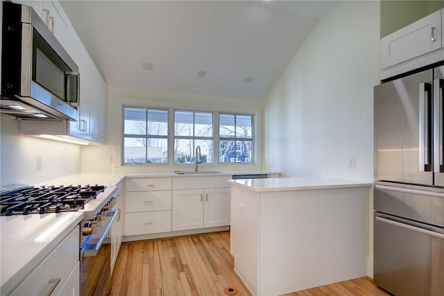
[[[174,164],[192,164],[197,146],[203,164],[213,162],[213,114],[174,112]]]

